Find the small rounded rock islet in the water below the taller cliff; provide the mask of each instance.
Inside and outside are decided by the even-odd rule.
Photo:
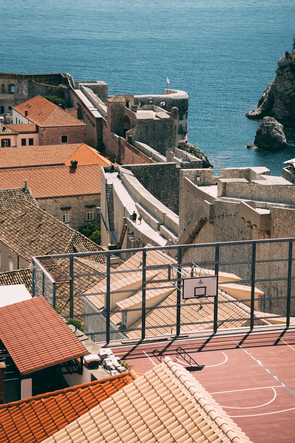
[[[284,126],[272,117],[264,117],[257,129],[254,145],[264,149],[286,148]]]

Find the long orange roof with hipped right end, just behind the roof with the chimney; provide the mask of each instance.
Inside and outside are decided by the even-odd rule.
[[[0,149],[0,169],[36,166],[69,165],[77,160],[79,165],[111,162],[87,144],[57,144],[48,146],[22,146]]]

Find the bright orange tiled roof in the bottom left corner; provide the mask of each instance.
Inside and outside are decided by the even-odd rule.
[[[139,374],[141,375],[141,374]],[[134,381],[133,371],[0,405],[0,441],[39,443]]]

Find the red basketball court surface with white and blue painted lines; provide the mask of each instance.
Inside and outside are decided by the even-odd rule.
[[[295,330],[112,349],[141,373],[171,357],[254,443],[295,442]]]

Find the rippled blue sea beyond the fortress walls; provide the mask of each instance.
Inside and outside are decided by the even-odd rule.
[[[13,0],[1,3],[5,23],[0,71],[69,72],[103,80],[109,93],[189,95],[188,141],[223,167],[266,166],[281,173],[288,148],[249,150],[256,109],[292,49],[294,0]]]

